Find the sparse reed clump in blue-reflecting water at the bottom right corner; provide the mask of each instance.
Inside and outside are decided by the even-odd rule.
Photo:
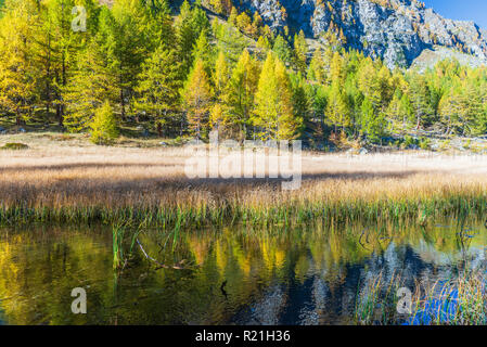
[[[383,273],[358,292],[355,319],[358,324],[486,325],[487,277],[485,269],[463,269],[449,279],[416,283],[410,314],[397,311],[400,275]]]

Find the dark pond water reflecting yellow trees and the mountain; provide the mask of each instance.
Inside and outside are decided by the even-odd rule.
[[[485,262],[482,223],[231,227],[139,235],[113,267],[112,229],[43,227],[0,233],[2,324],[355,324],[358,293],[377,275],[413,291]],[[72,291],[87,292],[87,314]],[[409,318],[403,317],[407,321]]]

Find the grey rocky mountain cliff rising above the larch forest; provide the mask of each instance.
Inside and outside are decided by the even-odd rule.
[[[239,2],[239,1],[234,1]],[[389,67],[410,66],[424,50],[440,48],[487,62],[487,33],[473,22],[447,20],[416,0],[240,0],[271,28],[303,29],[325,41],[336,33],[348,48],[382,57]]]

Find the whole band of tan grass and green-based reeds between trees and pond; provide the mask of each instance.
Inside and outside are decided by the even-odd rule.
[[[283,191],[279,179],[190,180],[182,149],[29,146],[0,153],[2,224],[425,223],[487,206],[485,157],[305,153],[302,188]]]

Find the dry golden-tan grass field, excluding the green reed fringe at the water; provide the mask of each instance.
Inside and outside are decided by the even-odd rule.
[[[337,205],[381,208],[390,202],[418,206],[451,198],[484,206],[487,192],[487,157],[478,155],[305,152],[300,189],[283,191],[279,179],[188,179],[184,147],[155,141],[105,147],[80,137],[44,133],[4,136],[0,146],[7,142],[29,149],[0,151],[3,209],[191,208],[206,214],[285,206],[316,213]]]

